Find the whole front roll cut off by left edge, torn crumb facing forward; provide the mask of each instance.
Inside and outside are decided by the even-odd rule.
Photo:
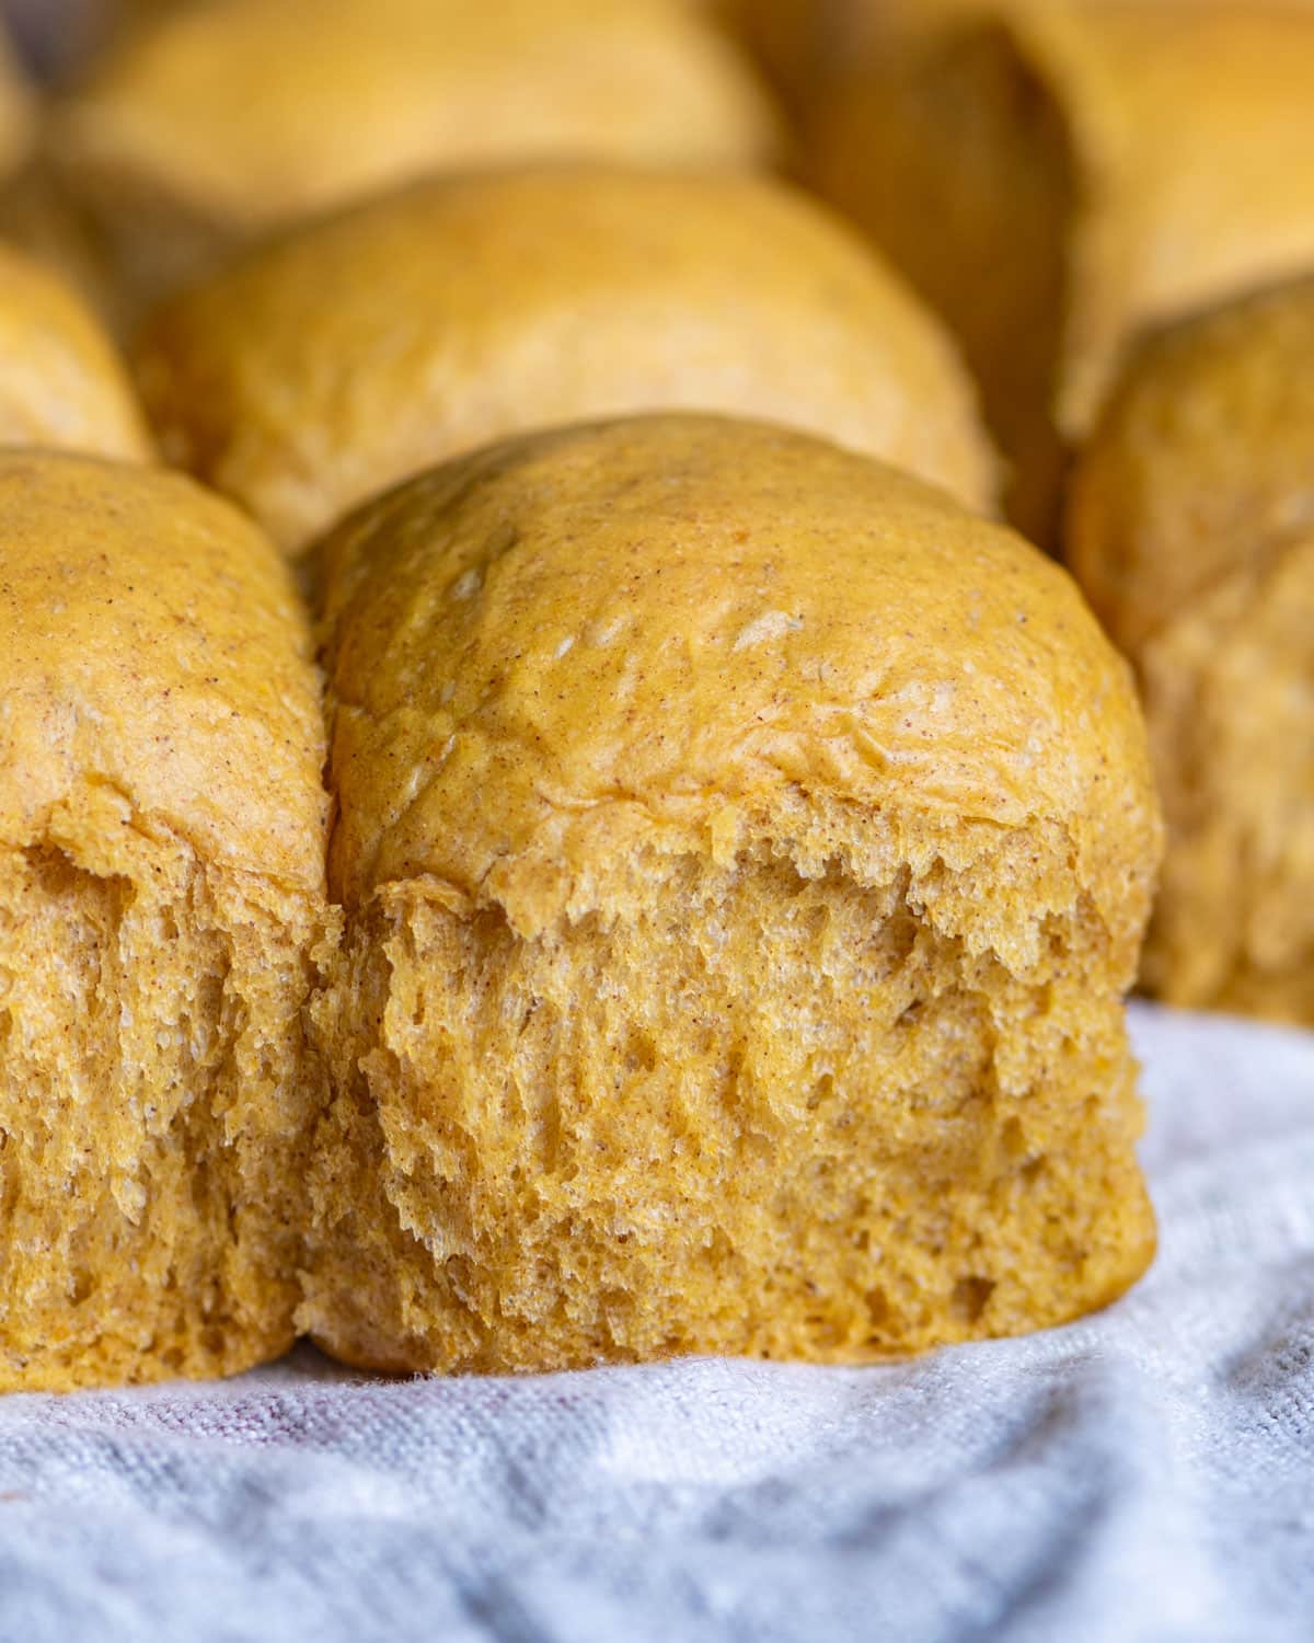
[[[292,1341],[322,718],[273,545],[156,468],[0,452],[0,1388]]]

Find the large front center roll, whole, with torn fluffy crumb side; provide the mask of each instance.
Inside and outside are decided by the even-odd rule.
[[[1158,818],[1064,572],[716,417],[480,452],[315,570],[332,1352],[864,1359],[1138,1277]]]

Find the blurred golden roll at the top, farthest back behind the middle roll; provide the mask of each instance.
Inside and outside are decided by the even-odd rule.
[[[53,158],[138,306],[273,225],[435,168],[751,164],[734,48],[654,0],[195,0],[110,53]]]

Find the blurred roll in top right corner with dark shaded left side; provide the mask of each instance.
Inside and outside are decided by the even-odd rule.
[[[963,338],[1035,536],[1135,329],[1314,258],[1312,85],[1289,0],[938,0],[821,100],[820,186]]]

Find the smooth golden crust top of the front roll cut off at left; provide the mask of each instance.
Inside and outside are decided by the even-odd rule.
[[[273,544],[177,473],[0,452],[0,838],[123,828],[315,891],[322,726]]]

